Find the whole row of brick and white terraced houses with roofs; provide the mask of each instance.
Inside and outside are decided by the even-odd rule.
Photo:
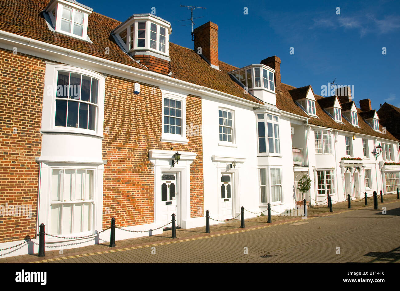
[[[207,209],[217,220],[241,206],[280,212],[303,198],[305,174],[312,204],[399,185],[399,141],[369,100],[357,108],[349,90],[324,98],[286,85],[277,56],[221,62],[212,22],[184,48],[152,14],[121,23],[72,0],[15,5],[0,1],[0,249],[41,223],[54,235],[46,247],[78,247],[98,239],[74,237],[112,217],[157,234],[172,214],[192,228]],[[140,235],[149,232],[116,231],[117,240]],[[28,252],[36,245],[0,255]]]

